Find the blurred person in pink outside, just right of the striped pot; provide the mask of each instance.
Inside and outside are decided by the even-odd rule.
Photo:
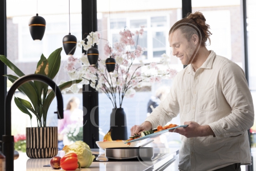
[[[62,150],[64,145],[71,144],[68,134],[74,133],[76,128],[83,126],[83,111],[79,109],[80,100],[78,97],[71,97],[68,100],[64,119],[58,120],[58,148]],[[64,140],[64,141],[63,141]]]

